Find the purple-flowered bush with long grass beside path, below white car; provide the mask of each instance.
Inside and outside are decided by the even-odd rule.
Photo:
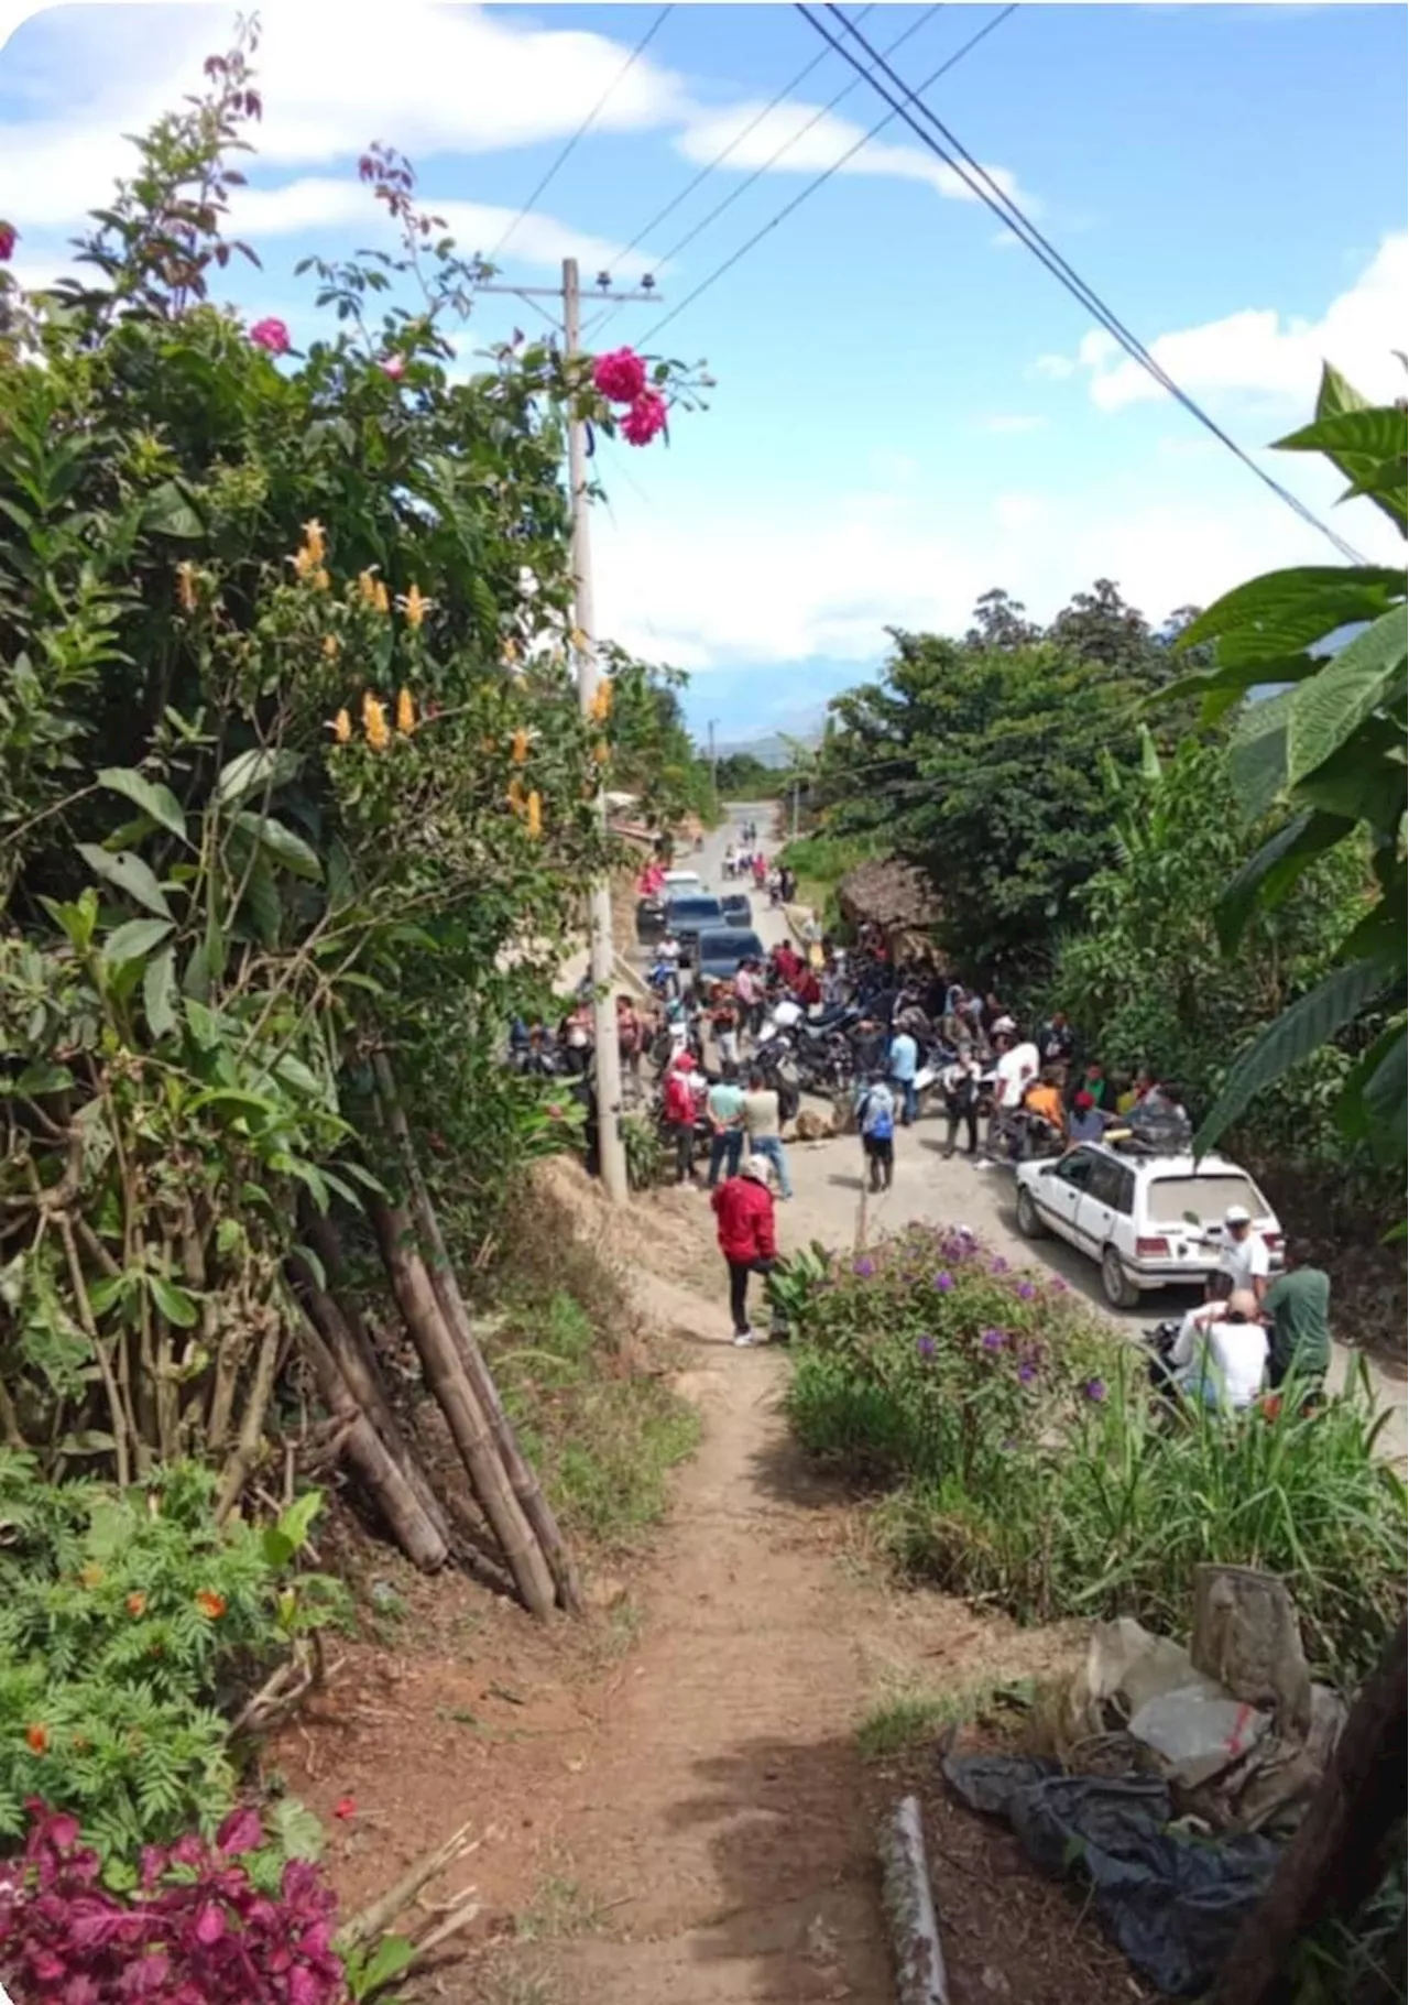
[[[962,1231],[912,1227],[798,1315],[804,1444],[896,1490],[894,1550],[1022,1622],[1189,1616],[1203,1560],[1281,1574],[1333,1674],[1367,1668],[1409,1592],[1409,1492],[1377,1454],[1367,1381],[1303,1418],[1168,1412],[1140,1357],[1060,1283]]]

